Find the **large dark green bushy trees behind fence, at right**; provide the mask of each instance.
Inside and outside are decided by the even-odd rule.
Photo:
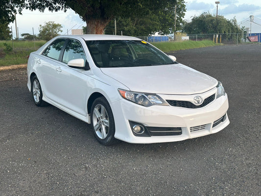
[[[192,18],[190,23],[184,25],[183,31],[188,34],[215,34],[224,33],[222,38],[231,41],[237,39],[241,40],[241,29],[237,26],[237,20],[234,18],[232,20],[227,20],[223,16],[215,16],[209,13],[203,13],[200,16],[195,16]],[[210,35],[212,36],[212,35]]]

